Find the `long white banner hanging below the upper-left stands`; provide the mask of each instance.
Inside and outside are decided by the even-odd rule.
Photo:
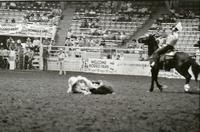
[[[0,35],[54,38],[56,26],[0,23]]]

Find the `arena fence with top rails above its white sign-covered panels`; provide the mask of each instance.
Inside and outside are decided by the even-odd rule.
[[[88,72],[98,74],[120,74],[150,76],[150,66],[147,49],[118,49],[103,47],[66,47],[42,46],[38,64],[43,68],[42,51],[47,47],[49,51],[48,70],[59,70],[57,55],[62,48],[66,54],[64,69],[66,71]],[[190,53],[196,56],[200,64],[200,52]],[[160,77],[183,78],[175,70],[161,71]]]

